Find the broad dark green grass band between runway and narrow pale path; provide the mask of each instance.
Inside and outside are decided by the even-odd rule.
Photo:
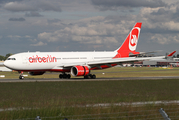
[[[179,80],[1,83],[0,108],[179,100]]]

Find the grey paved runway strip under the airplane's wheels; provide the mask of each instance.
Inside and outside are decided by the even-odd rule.
[[[59,79],[59,78],[38,78],[30,79],[0,79],[0,82],[62,82],[62,81],[109,81],[109,80],[162,80],[162,79],[179,79],[179,76],[157,76],[157,77],[120,77],[120,78],[96,78],[96,79]]]

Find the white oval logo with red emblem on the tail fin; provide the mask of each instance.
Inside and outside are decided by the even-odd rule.
[[[131,51],[135,51],[136,50],[139,33],[140,33],[140,28],[139,27],[133,28],[131,33],[130,33],[130,37],[129,37],[129,49]]]

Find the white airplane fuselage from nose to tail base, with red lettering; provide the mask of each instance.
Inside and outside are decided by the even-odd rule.
[[[12,55],[4,65],[17,71],[62,71],[63,65],[113,58],[117,52],[25,52]],[[63,71],[62,71],[63,72]]]

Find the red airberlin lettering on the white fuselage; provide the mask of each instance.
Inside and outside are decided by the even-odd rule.
[[[40,57],[38,55],[32,56],[28,58],[30,63],[49,63],[49,62],[57,62],[56,57],[52,57],[51,55],[47,55],[46,57]]]

